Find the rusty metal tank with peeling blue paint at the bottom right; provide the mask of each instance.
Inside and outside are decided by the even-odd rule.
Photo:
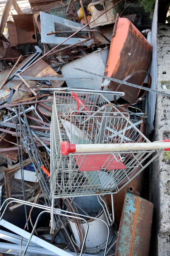
[[[127,189],[115,256],[148,256],[153,204]]]

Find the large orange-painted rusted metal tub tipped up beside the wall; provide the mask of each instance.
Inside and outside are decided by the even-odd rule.
[[[152,58],[152,46],[138,29],[126,18],[119,18],[116,35],[112,38],[105,76],[123,80],[139,70],[148,71]],[[147,73],[137,73],[127,82],[143,85]],[[104,86],[113,91],[123,91],[127,102],[134,102],[140,93],[138,88],[126,85],[118,87],[118,83],[104,80]]]

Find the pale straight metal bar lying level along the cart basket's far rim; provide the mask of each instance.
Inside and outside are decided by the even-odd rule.
[[[85,93],[94,93],[94,94],[113,94],[116,96],[125,96],[124,92],[114,92],[111,90],[104,91],[104,90],[92,90],[92,89],[83,89],[83,88],[71,88],[71,87],[60,87],[60,88],[42,88],[40,91],[75,91],[75,92],[85,92]]]

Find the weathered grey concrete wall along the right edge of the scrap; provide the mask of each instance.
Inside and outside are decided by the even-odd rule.
[[[157,90],[170,93],[170,26],[158,25],[157,44]],[[170,139],[170,99],[157,95],[153,140],[164,139]],[[150,166],[150,201],[154,204],[150,255],[170,256],[170,154],[162,153]]]

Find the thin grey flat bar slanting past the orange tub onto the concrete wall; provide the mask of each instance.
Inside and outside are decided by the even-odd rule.
[[[164,92],[161,92],[161,91],[158,91],[158,90],[153,90],[151,88],[143,87],[143,86],[140,86],[140,85],[137,85],[137,84],[131,84],[131,83],[128,83],[128,82],[125,82],[125,81],[122,81],[122,80],[119,80],[119,79],[111,78],[111,77],[108,77],[108,76],[102,76],[102,75],[99,75],[99,74],[96,74],[96,73],[93,73],[93,72],[82,70],[82,69],[77,68],[77,67],[74,67],[74,69],[82,71],[82,72],[85,72],[85,73],[88,73],[88,74],[91,74],[91,75],[94,75],[94,76],[99,76],[99,77],[102,77],[102,78],[104,78],[106,80],[117,82],[119,84],[125,84],[125,85],[131,86],[131,87],[139,88],[139,89],[142,89],[142,90],[147,90],[149,92],[158,93],[158,94],[170,97],[170,94],[164,93]]]

